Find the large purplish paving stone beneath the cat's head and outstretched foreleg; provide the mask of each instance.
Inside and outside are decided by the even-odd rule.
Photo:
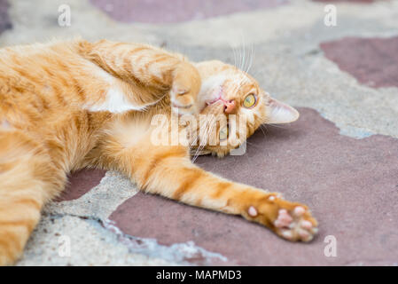
[[[199,157],[200,167],[222,177],[283,193],[308,204],[320,232],[309,244],[283,241],[241,217],[137,193],[111,215],[123,233],[160,244],[194,241],[228,257],[229,264],[369,265],[398,263],[398,139],[355,139],[339,134],[315,110],[300,120],[268,126],[249,139],[244,156]],[[324,256],[324,238],[337,256]]]

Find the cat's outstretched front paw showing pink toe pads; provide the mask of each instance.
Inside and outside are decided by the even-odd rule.
[[[268,226],[288,241],[311,241],[316,233],[317,222],[307,206],[285,201],[277,194],[270,194],[262,204],[247,208],[248,219]]]

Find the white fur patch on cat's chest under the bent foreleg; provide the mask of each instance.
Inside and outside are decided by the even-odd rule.
[[[136,106],[126,99],[126,95],[117,88],[110,88],[105,95],[105,101],[84,107],[92,112],[108,111],[121,114],[130,110],[144,110],[145,106]]]

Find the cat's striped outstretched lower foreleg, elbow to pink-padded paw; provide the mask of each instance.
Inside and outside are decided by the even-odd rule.
[[[147,192],[193,206],[241,215],[266,225],[289,241],[311,241],[317,232],[316,219],[307,206],[285,201],[278,193],[267,193],[216,177],[191,164],[178,148],[154,155],[149,160],[147,167],[136,170],[133,176]]]

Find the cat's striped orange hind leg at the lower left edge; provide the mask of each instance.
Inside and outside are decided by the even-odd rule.
[[[65,179],[35,142],[22,133],[0,130],[0,265],[18,259],[43,203]]]

